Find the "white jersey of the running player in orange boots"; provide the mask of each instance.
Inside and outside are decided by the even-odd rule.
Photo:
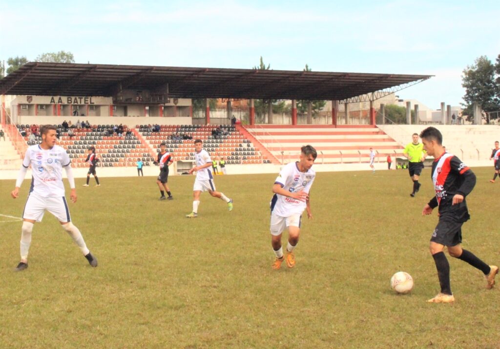
[[[297,162],[290,162],[288,165],[284,166],[279,172],[279,176],[277,176],[274,184],[281,185],[281,188],[290,193],[301,190],[309,193],[316,173],[311,168],[307,170],[307,172],[300,172],[297,164]],[[302,214],[305,210],[304,201],[288,198],[279,194],[276,194],[275,197],[276,199],[273,198],[271,202],[271,211],[278,216],[288,217],[293,214]]]

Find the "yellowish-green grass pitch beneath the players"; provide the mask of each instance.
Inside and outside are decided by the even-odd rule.
[[[463,247],[497,264],[500,188],[487,182],[491,168],[474,172]],[[99,266],[46,213],[29,268],[13,273],[21,224],[0,223],[0,348],[498,348],[499,289],[485,290],[479,271],[449,258],[455,304],[425,303],[438,291],[428,252],[437,216],[420,215],[429,177],[412,199],[406,171],[318,173],[296,267],[279,271],[268,231],[275,175],[216,177],[234,210],[203,193],[191,220],[191,176],[170,177],[173,201],[157,200],[153,177],[99,188],[78,179],[71,217]],[[13,185],[0,181],[0,214],[18,217],[29,181],[17,200]],[[390,290],[397,271],[412,275],[411,294]]]

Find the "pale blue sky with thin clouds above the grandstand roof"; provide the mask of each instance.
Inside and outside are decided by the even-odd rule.
[[[403,89],[459,105],[462,70],[500,54],[500,1],[0,0],[0,59],[435,75]]]

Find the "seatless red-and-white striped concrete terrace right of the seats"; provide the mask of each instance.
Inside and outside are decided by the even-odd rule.
[[[388,154],[401,156],[403,150],[399,143],[373,126],[335,128],[329,125],[258,125],[245,126],[245,129],[284,163],[295,159],[300,147],[305,144],[316,148],[316,162],[322,163],[367,161],[370,147],[377,151],[381,161]]]

